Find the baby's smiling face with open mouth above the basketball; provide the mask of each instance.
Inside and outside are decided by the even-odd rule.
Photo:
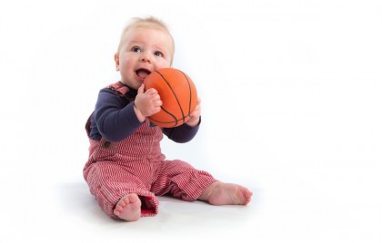
[[[173,40],[165,30],[133,27],[115,55],[116,70],[121,73],[122,83],[138,89],[149,73],[170,67],[173,54]]]

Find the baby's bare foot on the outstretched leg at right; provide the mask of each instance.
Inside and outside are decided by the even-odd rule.
[[[212,205],[246,205],[252,192],[240,185],[216,181],[203,191],[199,199]]]

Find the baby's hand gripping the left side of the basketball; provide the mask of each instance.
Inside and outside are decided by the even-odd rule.
[[[142,84],[136,94],[134,111],[139,121],[145,121],[147,116],[151,116],[160,111],[162,100],[156,89],[148,89],[145,92],[145,84]]]

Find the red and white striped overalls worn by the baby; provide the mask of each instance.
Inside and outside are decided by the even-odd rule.
[[[121,83],[110,85],[120,95],[128,91]],[[86,122],[89,134],[90,118]],[[84,177],[90,192],[106,214],[114,214],[116,203],[128,193],[136,193],[142,201],[141,217],[155,216],[158,199],[167,193],[176,198],[196,200],[216,180],[206,171],[196,170],[182,160],[165,160],[160,149],[163,138],[159,127],[145,121],[123,141],[89,139],[89,159]]]

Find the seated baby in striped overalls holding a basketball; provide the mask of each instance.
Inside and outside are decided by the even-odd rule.
[[[175,43],[166,24],[154,17],[136,18],[124,29],[115,54],[121,80],[102,89],[86,122],[89,159],[84,177],[100,207],[113,219],[136,221],[155,216],[156,196],[204,200],[212,205],[246,205],[252,192],[216,180],[182,160],[166,160],[160,149],[165,134],[191,141],[201,123],[200,100],[190,119],[176,128],[159,128],[146,117],[160,111],[155,89],[145,92],[149,73],[171,67]]]

